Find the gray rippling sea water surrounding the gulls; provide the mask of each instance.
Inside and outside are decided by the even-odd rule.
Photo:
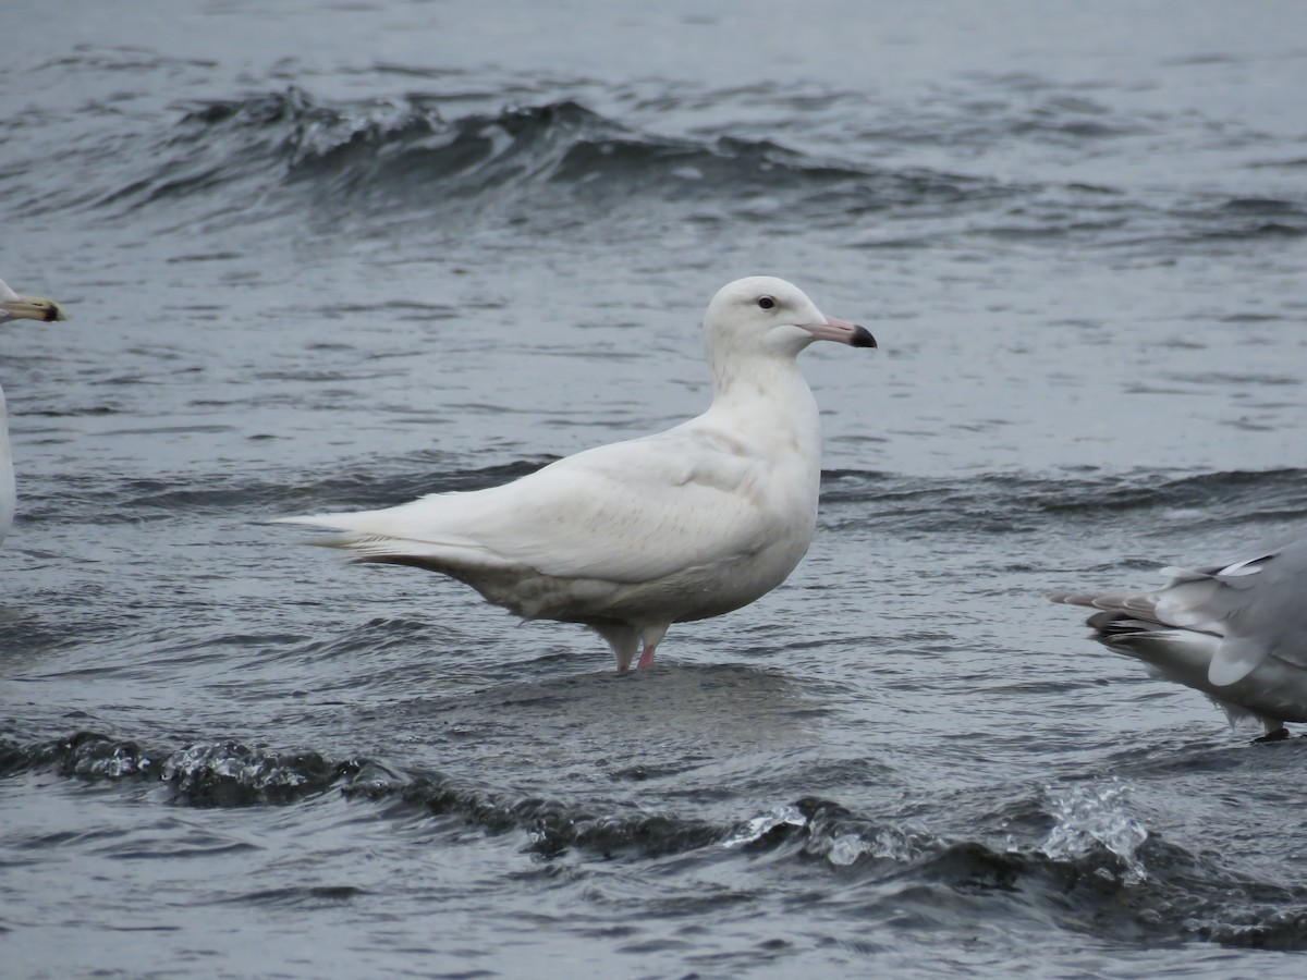
[[[1304,968],[1307,741],[1042,596],[1307,517],[1307,9],[799,8],[4,5],[0,972]],[[265,523],[698,413],[750,273],[881,350],[654,669]]]

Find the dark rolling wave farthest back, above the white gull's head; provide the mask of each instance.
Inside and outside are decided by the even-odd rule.
[[[1012,193],[982,178],[859,166],[769,140],[661,136],[570,99],[452,119],[440,106],[420,94],[319,105],[298,88],[193,105],[153,137],[144,172],[133,167],[90,204],[116,217],[201,201],[217,221],[308,206],[318,222],[361,210],[518,222],[663,201],[714,221],[771,214],[779,195],[809,222],[843,223]]]

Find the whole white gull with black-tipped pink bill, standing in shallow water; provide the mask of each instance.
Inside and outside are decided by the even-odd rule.
[[[289,517],[359,562],[464,581],[528,619],[589,626],[620,670],[673,622],[738,609],[784,581],[817,521],[817,404],[795,361],[814,340],[876,346],[784,280],[724,286],[703,320],[715,395],[657,435],[558,460],[503,486],[379,511]]]

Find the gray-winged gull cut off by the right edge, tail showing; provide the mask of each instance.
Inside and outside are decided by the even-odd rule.
[[[1095,639],[1202,691],[1231,724],[1256,719],[1265,741],[1287,737],[1285,721],[1307,721],[1307,537],[1163,574],[1155,592],[1050,598],[1100,610],[1086,623]]]

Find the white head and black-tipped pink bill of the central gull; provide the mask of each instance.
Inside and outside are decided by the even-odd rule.
[[[876,346],[867,329],[826,316],[799,286],[774,276],[749,276],[719,289],[703,332],[714,359],[727,351],[795,357],[814,340]]]

